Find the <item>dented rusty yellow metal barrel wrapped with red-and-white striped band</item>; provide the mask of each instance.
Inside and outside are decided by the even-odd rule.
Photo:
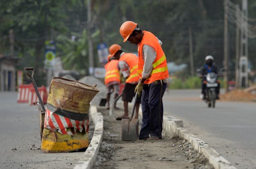
[[[89,107],[99,90],[91,85],[53,78],[50,83],[41,150],[70,152],[89,146]]]

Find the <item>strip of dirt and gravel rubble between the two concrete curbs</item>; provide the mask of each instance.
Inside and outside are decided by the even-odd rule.
[[[104,138],[93,169],[155,169],[170,166],[175,169],[213,169],[208,159],[177,136],[163,136],[160,140],[122,141],[121,121],[116,121],[115,117],[121,115],[123,110],[115,110],[111,118],[108,110],[102,108],[98,111],[104,116]]]

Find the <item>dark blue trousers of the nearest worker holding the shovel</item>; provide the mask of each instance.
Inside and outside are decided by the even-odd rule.
[[[157,80],[149,85],[144,85],[142,91],[142,126],[139,138],[156,136],[162,139],[163,103],[166,83]]]

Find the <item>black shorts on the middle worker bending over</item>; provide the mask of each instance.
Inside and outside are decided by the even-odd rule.
[[[130,84],[130,83],[126,83],[124,85],[123,94],[122,94],[123,101],[132,102],[133,97],[135,96],[134,90],[135,90],[136,86],[137,86],[137,84]],[[141,103],[141,97],[137,98],[136,103],[137,104]]]

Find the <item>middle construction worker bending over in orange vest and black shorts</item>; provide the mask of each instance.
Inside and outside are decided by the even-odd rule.
[[[134,90],[139,82],[139,74],[137,73],[138,57],[133,53],[124,53],[123,50],[121,50],[121,46],[117,44],[110,46],[109,52],[113,57],[115,57],[115,59],[119,60],[119,70],[126,79],[122,92],[124,114],[117,117],[117,120],[127,119],[128,102],[133,100],[133,97],[135,96]],[[140,97],[137,98],[135,119],[138,119],[140,100]]]

